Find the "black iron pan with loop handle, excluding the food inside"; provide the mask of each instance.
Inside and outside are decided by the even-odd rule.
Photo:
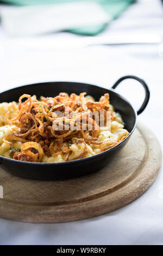
[[[134,80],[139,81],[142,84],[143,88],[145,88],[145,100],[143,101],[142,106],[140,107],[139,111],[137,111],[137,113],[130,105],[130,103],[120,94],[116,93],[114,90],[120,82],[127,78],[133,78]],[[93,86],[91,84],[75,82],[47,82],[29,84],[27,86],[17,87],[1,93],[0,102],[17,101],[18,98],[24,93],[30,95],[36,94],[37,97],[41,95],[45,97],[52,97],[58,95],[60,92],[66,92],[68,94],[79,94],[82,92],[86,92],[87,95],[92,95],[93,97],[95,97],[96,100],[99,100],[99,97],[101,97],[101,95],[109,93],[110,103],[115,107],[116,111],[120,112],[120,114],[122,115],[123,121],[125,123],[125,128],[130,132],[130,135],[126,139],[124,139],[123,142],[116,145],[114,148],[106,150],[95,156],[69,162],[22,162],[0,156],[0,161],[3,164],[3,167],[7,169],[10,173],[27,179],[62,180],[85,175],[101,169],[102,167],[106,166],[109,161],[111,161],[112,157],[116,153],[118,153],[118,151],[120,151],[124,147],[124,145],[126,145],[135,129],[137,115],[143,112],[149,101],[149,89],[147,87],[147,84],[139,77],[124,76],[121,77],[114,84],[114,86],[112,86],[112,89],[109,90],[98,86]]]

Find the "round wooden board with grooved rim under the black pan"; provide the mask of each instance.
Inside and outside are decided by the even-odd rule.
[[[105,168],[77,179],[35,181],[0,169],[0,217],[24,222],[66,222],[105,214],[132,202],[153,184],[161,166],[154,134],[139,124]],[[77,170],[78,171],[78,170]]]

